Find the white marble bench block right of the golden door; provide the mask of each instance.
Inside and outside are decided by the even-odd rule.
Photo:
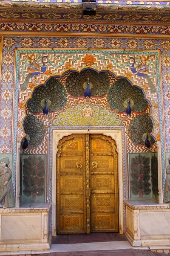
[[[126,200],[125,236],[132,246],[170,247],[170,204]]]

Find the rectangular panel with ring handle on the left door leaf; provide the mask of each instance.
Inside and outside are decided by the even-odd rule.
[[[64,172],[82,172],[82,166],[79,166],[79,163],[82,163],[82,156],[73,157],[73,156],[62,156],[61,157],[61,171]]]

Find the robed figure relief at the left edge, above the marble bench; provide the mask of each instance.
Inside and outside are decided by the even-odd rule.
[[[12,173],[8,157],[0,160],[0,207],[14,207],[14,190],[12,185]]]

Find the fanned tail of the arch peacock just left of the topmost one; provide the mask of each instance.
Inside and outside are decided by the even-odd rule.
[[[31,113],[39,113],[45,108],[45,102],[50,112],[62,109],[67,101],[67,93],[57,78],[49,79],[45,85],[34,90],[32,98],[28,101],[28,110]]]

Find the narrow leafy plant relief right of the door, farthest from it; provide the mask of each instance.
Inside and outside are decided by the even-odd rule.
[[[157,199],[158,194],[158,157],[154,154],[151,158],[151,183],[152,183],[152,192]]]

